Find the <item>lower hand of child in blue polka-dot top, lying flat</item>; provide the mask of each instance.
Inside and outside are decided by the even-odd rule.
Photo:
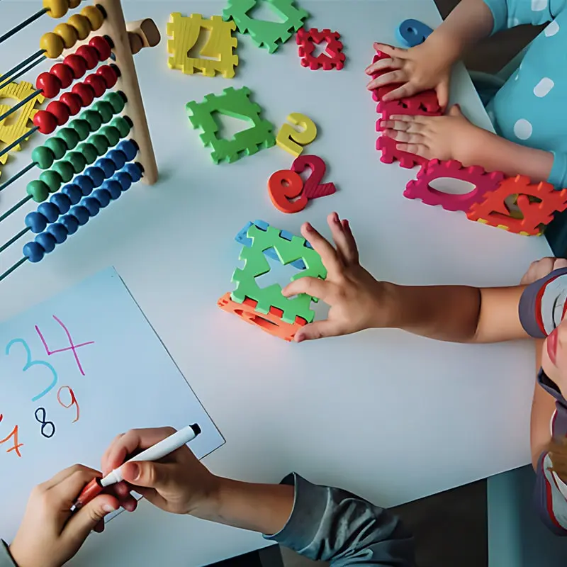
[[[469,122],[457,105],[447,116],[393,115],[380,125],[386,136],[400,142],[398,150],[426,159],[457,159],[466,166],[475,165],[473,156],[486,134]]]

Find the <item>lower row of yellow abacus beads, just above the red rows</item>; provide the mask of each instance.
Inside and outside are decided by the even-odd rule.
[[[50,59],[57,59],[77,41],[88,38],[91,31],[100,29],[103,22],[104,13],[98,6],[85,6],[80,14],[71,16],[67,23],[60,23],[52,32],[44,33],[40,39],[40,49]]]

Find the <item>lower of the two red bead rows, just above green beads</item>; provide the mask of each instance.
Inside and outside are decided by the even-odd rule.
[[[83,83],[77,83],[70,93],[61,96],[60,101],[52,101],[45,111],[38,111],[33,123],[40,133],[51,134],[57,126],[62,126],[69,116],[79,113],[81,108],[89,106],[95,98],[102,96],[106,89],[111,89],[118,81],[118,67],[103,65],[86,77]]]

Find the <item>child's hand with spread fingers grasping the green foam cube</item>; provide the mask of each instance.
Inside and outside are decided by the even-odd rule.
[[[329,318],[305,325],[296,333],[296,342],[321,337],[335,337],[388,325],[385,305],[388,302],[388,284],[376,281],[359,264],[357,243],[348,220],[340,220],[331,213],[327,222],[331,228],[336,249],[309,223],[301,227],[301,234],[320,254],[327,279],[300,278],[283,288],[286,297],[308,293],[330,305]]]

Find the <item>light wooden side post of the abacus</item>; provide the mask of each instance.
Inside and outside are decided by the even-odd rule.
[[[126,99],[128,99],[126,109],[134,125],[133,138],[140,147],[139,157],[136,161],[140,162],[144,168],[142,181],[148,185],[153,185],[157,181],[157,163],[122,6],[120,0],[99,0],[97,4],[106,11],[105,21],[98,33],[108,35],[114,44],[113,52],[116,55],[116,64],[120,69],[120,78],[116,84],[116,89],[123,91]]]

